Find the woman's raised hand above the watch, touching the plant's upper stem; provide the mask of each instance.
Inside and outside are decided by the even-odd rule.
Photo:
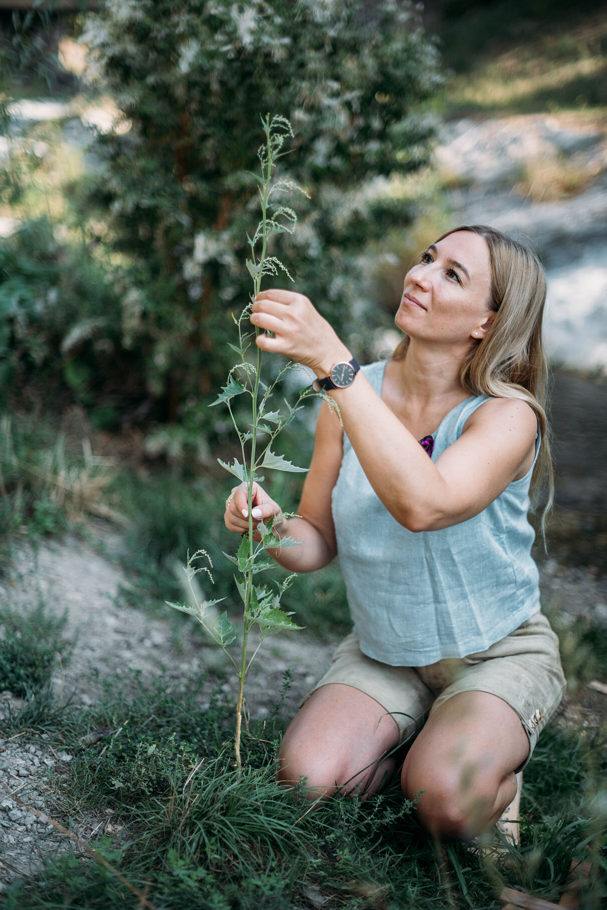
[[[261,329],[256,344],[327,376],[334,363],[351,354],[327,319],[303,294],[290,290],[265,290],[255,298],[250,320]],[[263,332],[274,332],[270,338]],[[347,356],[346,356],[347,355]]]

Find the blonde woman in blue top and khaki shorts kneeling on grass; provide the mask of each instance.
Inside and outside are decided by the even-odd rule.
[[[275,531],[302,546],[269,551],[293,571],[339,554],[354,621],[280,751],[279,779],[305,777],[313,798],[375,792],[394,770],[390,753],[420,731],[403,793],[420,794],[431,834],[479,834],[515,799],[561,701],[527,521],[531,480],[552,486],[545,296],[528,248],[472,226],[408,272],[395,318],[405,337],[387,363],[348,366],[349,350],[299,294],[270,290],[253,305],[258,346],[313,369],[343,424],[322,405],[298,517]],[[255,519],[280,514],[258,485],[254,506]],[[244,486],[225,521],[248,530]]]

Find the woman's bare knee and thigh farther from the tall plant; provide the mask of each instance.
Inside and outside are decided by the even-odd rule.
[[[486,692],[454,695],[432,713],[402,769],[406,796],[431,834],[472,837],[495,824],[516,794],[529,739],[510,705]]]

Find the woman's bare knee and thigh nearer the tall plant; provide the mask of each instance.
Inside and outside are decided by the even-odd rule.
[[[288,726],[280,748],[278,781],[307,778],[310,799],[343,788],[375,793],[394,759],[384,758],[400,739],[396,721],[353,686],[329,682],[312,693]]]

